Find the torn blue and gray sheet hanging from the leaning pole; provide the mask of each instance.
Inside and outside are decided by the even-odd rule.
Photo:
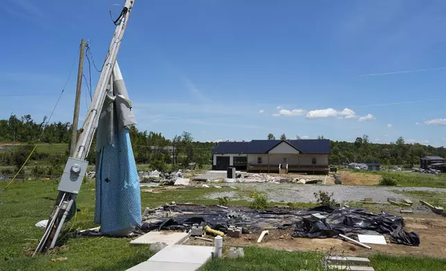
[[[96,135],[94,222],[104,234],[125,235],[142,220],[139,178],[128,129],[136,122],[117,63],[112,78]]]

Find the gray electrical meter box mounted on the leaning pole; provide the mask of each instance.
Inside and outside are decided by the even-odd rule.
[[[66,161],[64,174],[60,180],[59,188],[57,190],[68,192],[72,194],[79,194],[82,180],[87,171],[88,162],[76,158],[68,158]]]

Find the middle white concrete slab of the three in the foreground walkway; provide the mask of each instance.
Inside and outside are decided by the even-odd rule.
[[[203,265],[211,259],[211,252],[213,251],[214,247],[202,245],[171,245],[154,254],[148,261]]]

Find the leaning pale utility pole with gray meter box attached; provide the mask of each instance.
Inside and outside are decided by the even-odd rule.
[[[80,133],[73,156],[69,157],[66,161],[64,173],[57,188],[59,194],[56,204],[48,219],[44,235],[37,245],[33,256],[55,246],[57,236],[59,236],[65,220],[70,219],[76,212],[75,198],[79,194],[82,180],[88,166],[85,158],[87,158],[91,142],[93,141],[105,97],[110,92],[113,93],[111,90],[111,86],[113,85],[111,73],[116,64],[116,57],[121,46],[121,41],[123,40],[125,27],[127,26],[133,4],[134,0],[125,0],[121,14],[114,21],[116,29],[109,45],[107,57],[102,65],[98,85],[94,91],[87,117],[82,125],[82,132]]]

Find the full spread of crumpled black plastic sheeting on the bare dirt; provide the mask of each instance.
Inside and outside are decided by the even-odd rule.
[[[420,245],[420,236],[406,232],[401,216],[372,214],[364,208],[338,208],[321,206],[307,210],[256,211],[206,210],[193,212],[187,207],[167,207],[170,211],[184,212],[171,218],[152,223],[143,223],[141,230],[188,230],[193,224],[208,225],[215,230],[227,232],[229,226],[242,227],[244,234],[260,232],[274,227],[279,230],[294,228],[293,237],[338,238],[339,234],[357,239],[357,234],[387,234],[392,243]],[[188,214],[187,212],[193,212]],[[326,216],[325,221],[316,221],[311,214]],[[353,233],[353,234],[352,234]]]

